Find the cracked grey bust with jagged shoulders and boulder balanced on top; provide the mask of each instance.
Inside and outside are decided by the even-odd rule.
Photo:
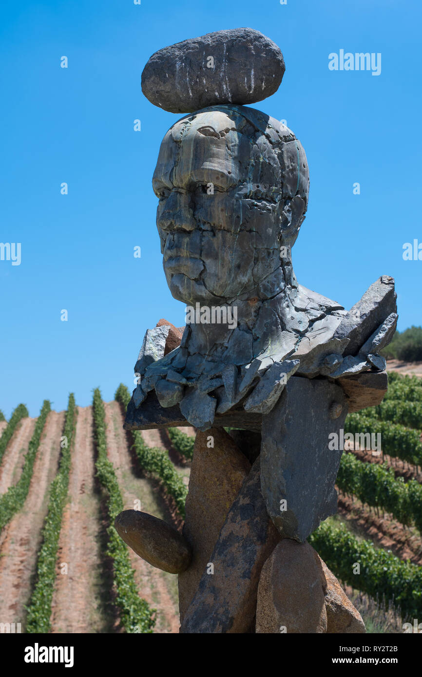
[[[187,313],[180,347],[169,354],[165,328],[147,332],[135,408],[154,390],[163,408],[179,404],[186,420],[207,430],[238,403],[270,412],[293,374],[339,378],[383,368],[373,353],[395,327],[391,278],[373,292],[387,295],[387,329],[376,308],[368,319],[364,301],[363,330],[356,313],[296,280],[291,248],[308,208],[305,151],[278,120],[242,105],[273,94],[283,74],[279,47],[250,28],[171,45],[144,68],[150,102],[186,113],[161,143],[152,185],[167,284],[201,313],[194,320]],[[369,329],[381,336],[374,346],[364,343]]]

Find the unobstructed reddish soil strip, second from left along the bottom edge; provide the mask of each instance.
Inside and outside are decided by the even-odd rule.
[[[110,596],[110,592],[104,592],[108,580],[104,580],[102,563],[102,521],[95,479],[92,407],[77,407],[71,458],[69,498],[60,531],[51,632],[108,632],[110,613],[104,609],[103,600]]]

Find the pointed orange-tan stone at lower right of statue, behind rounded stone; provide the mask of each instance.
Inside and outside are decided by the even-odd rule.
[[[345,594],[335,575],[318,556],[324,575],[326,632],[360,634],[366,632],[362,616]]]

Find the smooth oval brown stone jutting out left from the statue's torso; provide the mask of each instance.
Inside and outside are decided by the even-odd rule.
[[[123,510],[114,526],[125,543],[153,567],[180,573],[189,566],[190,545],[162,519],[140,510]]]

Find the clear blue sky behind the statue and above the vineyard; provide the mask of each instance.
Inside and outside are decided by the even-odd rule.
[[[20,265],[0,261],[5,415],[23,401],[37,416],[45,397],[62,410],[70,391],[85,406],[97,386],[112,399],[133,387],[145,330],[184,324],[151,188],[181,116],[152,106],[140,76],[157,49],[222,28],[261,30],[284,54],[278,92],[254,107],[286,120],[308,157],[299,282],[350,307],[392,275],[398,328],[422,324],[422,261],[402,258],[404,242],[422,242],[421,14],[419,0],[3,0],[0,242],[22,243]],[[329,70],[340,49],[381,53],[381,74]]]

